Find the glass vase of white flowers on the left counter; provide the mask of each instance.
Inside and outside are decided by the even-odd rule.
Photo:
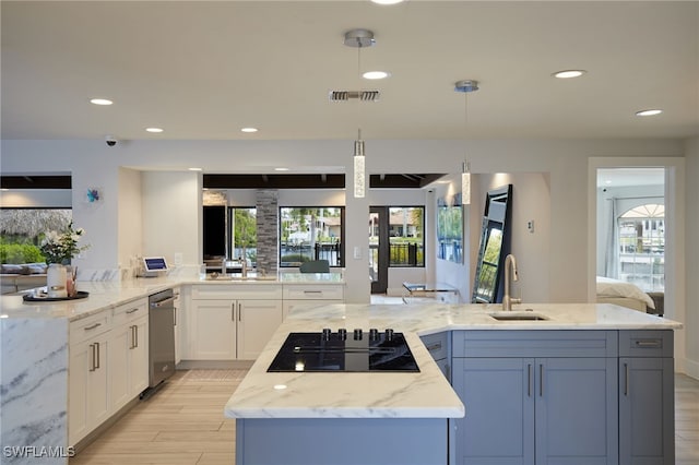
[[[46,233],[39,250],[48,264],[46,270],[48,297],[69,297],[69,287],[74,289],[74,286],[70,286],[68,283],[69,273],[66,265],[70,263],[73,257],[90,247],[78,246],[78,241],[84,234],[85,230],[83,228],[73,229],[72,222],[63,231]],[[72,279],[72,273],[70,273],[70,277]]]

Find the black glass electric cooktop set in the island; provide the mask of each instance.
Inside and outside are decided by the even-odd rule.
[[[344,329],[291,333],[266,371],[418,372],[403,333]]]

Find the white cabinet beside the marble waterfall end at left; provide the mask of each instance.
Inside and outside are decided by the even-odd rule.
[[[110,314],[107,311],[70,324],[68,440],[74,445],[109,417]]]

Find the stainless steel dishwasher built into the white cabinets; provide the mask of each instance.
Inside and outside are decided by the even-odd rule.
[[[149,297],[149,390],[175,373],[175,293]]]

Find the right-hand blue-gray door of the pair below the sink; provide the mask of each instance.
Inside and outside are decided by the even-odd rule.
[[[616,464],[616,358],[537,358],[535,363],[536,464]]]

